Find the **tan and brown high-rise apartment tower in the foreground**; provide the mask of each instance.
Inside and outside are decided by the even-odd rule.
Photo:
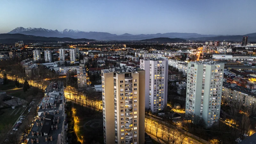
[[[142,144],[145,135],[145,71],[101,70],[105,144]]]

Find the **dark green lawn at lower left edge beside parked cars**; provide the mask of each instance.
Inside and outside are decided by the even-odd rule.
[[[20,117],[22,111],[25,108],[22,106],[16,107],[15,109],[12,108],[4,108],[1,109],[4,113],[0,115],[0,133],[3,130],[5,125],[11,124],[13,125],[16,120]]]

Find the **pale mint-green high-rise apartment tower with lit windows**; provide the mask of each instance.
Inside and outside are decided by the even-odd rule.
[[[186,116],[200,116],[206,127],[220,119],[224,64],[188,63]]]

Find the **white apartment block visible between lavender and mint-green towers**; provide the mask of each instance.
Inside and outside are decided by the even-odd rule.
[[[169,66],[177,68],[182,76],[187,76],[188,63],[180,60],[169,59]]]

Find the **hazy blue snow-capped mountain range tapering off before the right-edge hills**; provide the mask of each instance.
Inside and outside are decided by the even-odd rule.
[[[64,29],[58,31],[57,29],[45,29],[45,28],[23,28],[18,27],[9,32],[9,34],[24,34],[33,36],[45,36],[45,37],[70,37],[70,38],[87,38],[96,40],[143,40],[158,37],[168,38],[197,38],[197,37],[212,37],[217,35],[201,35],[197,33],[157,33],[157,34],[140,34],[132,35],[125,33],[123,35],[110,34],[106,32],[84,32],[79,30]]]

